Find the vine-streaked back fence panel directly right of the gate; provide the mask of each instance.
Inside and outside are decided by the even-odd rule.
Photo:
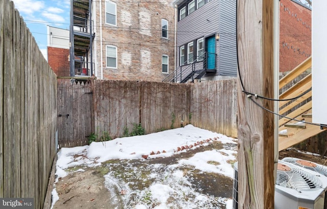
[[[139,124],[140,82],[96,81],[94,89],[95,133],[121,137],[124,128]]]

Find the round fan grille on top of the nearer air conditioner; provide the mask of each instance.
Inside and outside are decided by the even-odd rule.
[[[297,168],[290,168],[290,170],[277,170],[276,185],[292,188],[298,191],[308,191],[321,188],[321,182],[316,176]]]

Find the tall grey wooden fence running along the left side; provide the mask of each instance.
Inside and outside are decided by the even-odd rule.
[[[56,154],[57,80],[13,2],[0,1],[0,197],[42,208]]]

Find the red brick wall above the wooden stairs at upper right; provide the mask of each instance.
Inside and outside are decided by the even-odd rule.
[[[311,10],[281,0],[279,15],[279,72],[286,72],[311,56]]]

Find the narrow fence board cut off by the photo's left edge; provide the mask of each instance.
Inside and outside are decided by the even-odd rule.
[[[4,98],[4,1],[0,1],[0,98]],[[0,123],[4,124],[3,102],[0,102]],[[0,174],[4,172],[4,129],[0,125]],[[0,176],[0,197],[4,197],[4,175]]]

